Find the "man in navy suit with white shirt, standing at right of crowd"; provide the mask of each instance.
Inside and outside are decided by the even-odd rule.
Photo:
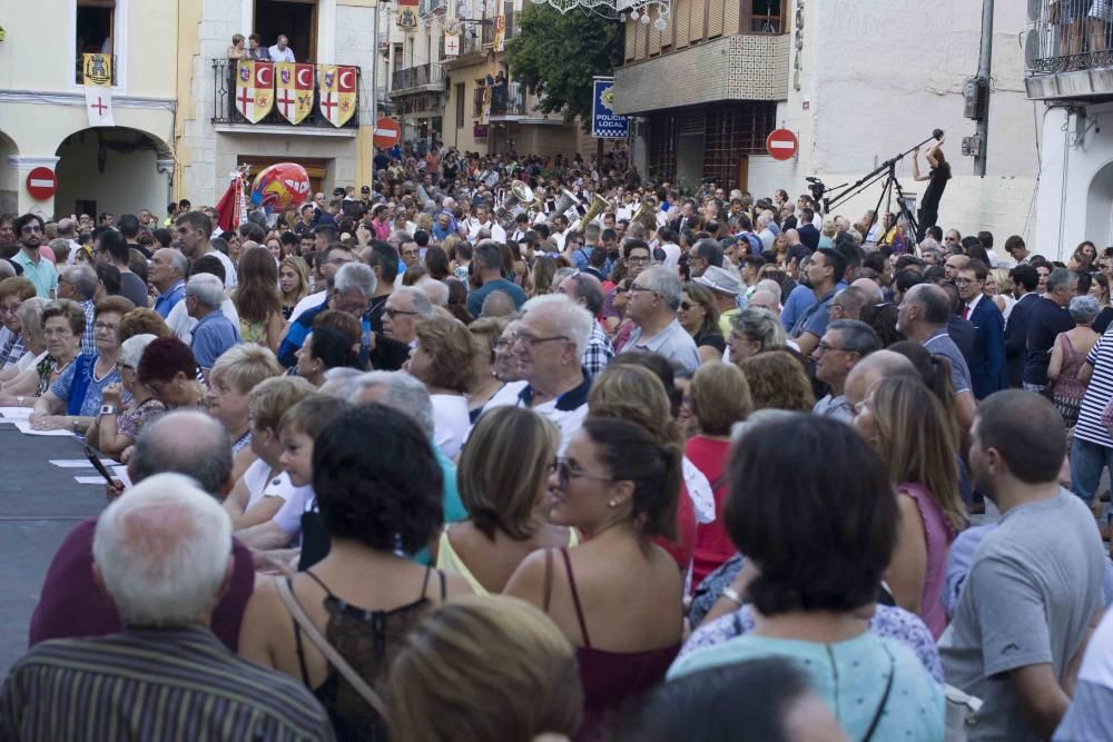
[[[962,314],[974,325],[971,357],[971,383],[974,397],[984,399],[1008,386],[1005,370],[1005,318],[993,299],[983,293],[989,266],[971,260],[958,271],[955,286],[962,299]]]

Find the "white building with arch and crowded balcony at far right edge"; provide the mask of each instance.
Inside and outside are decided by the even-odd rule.
[[[1024,82],[1044,185],[1036,248],[1065,260],[1083,240],[1113,245],[1113,26],[1082,0],[1027,4]]]

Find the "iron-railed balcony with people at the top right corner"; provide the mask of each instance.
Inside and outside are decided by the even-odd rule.
[[[1113,7],[1094,0],[1028,2],[1025,80],[1032,99],[1113,97]]]

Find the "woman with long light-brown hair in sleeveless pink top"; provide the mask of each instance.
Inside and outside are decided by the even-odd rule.
[[[939,602],[947,550],[966,526],[953,426],[935,395],[910,378],[875,386],[857,405],[854,426],[888,464],[897,492],[900,526],[886,582],[896,604],[938,639],[947,626]]]

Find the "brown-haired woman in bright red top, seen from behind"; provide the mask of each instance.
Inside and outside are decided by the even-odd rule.
[[[696,526],[692,584],[698,585],[739,548],[722,526],[729,491],[723,474],[730,458],[730,426],[750,414],[750,386],[733,364],[703,364],[696,370],[684,400],[699,428],[688,441],[684,455],[715,487],[715,520]]]

